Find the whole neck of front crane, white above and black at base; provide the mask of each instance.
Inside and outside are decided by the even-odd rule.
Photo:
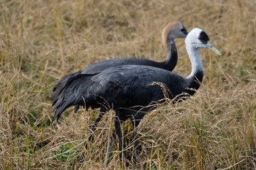
[[[198,49],[189,43],[187,43],[186,48],[192,65],[192,72],[187,77],[187,88],[194,89],[194,92],[190,90],[188,92],[190,95],[193,95],[203,81],[203,65],[199,58]]]

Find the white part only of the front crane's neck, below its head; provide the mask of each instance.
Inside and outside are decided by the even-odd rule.
[[[194,77],[197,72],[203,72],[203,65],[199,58],[198,48],[187,42],[186,48],[192,65],[192,72],[189,77]]]

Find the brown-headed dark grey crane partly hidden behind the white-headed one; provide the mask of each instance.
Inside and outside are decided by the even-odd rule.
[[[86,69],[83,69],[83,71],[81,72],[68,74],[67,76],[59,80],[59,82],[53,88],[53,93],[51,96],[53,104],[58,100],[59,93],[61,93],[61,90],[63,90],[67,83],[69,81],[72,81],[72,78],[76,77],[78,74],[97,74],[105,69],[110,68],[111,66],[121,65],[155,66],[169,70],[170,72],[173,71],[178,61],[177,49],[174,39],[186,38],[187,34],[187,29],[180,22],[170,21],[170,23],[167,23],[167,25],[162,31],[162,43],[165,46],[167,55],[166,61],[164,62],[151,61],[143,58],[115,58],[112,60],[93,63]],[[79,106],[76,105],[75,112],[77,112],[78,109]]]

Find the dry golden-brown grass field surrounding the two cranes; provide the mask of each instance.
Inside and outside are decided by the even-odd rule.
[[[256,2],[0,1],[0,169],[135,169],[105,167],[114,113],[105,115],[86,150],[97,110],[68,109],[51,125],[50,93],[65,74],[91,63],[135,56],[165,60],[162,28],[179,20],[203,28],[222,52],[200,50],[204,79],[195,96],[165,104],[141,122],[141,169],[256,169]],[[184,39],[178,65],[189,75]],[[124,123],[132,152],[132,125]],[[85,160],[79,162],[84,153]]]

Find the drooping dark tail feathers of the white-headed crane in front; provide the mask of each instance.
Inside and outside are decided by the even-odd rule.
[[[65,85],[62,84],[64,86],[60,90],[59,95],[56,96],[53,101],[55,110],[53,121],[58,121],[62,112],[64,112],[68,107],[75,105],[75,109],[77,110],[79,106],[85,105],[84,100],[88,98],[86,90],[89,88],[92,75],[94,74],[80,74],[77,72],[72,74],[72,76],[69,76],[67,81],[65,80]]]

